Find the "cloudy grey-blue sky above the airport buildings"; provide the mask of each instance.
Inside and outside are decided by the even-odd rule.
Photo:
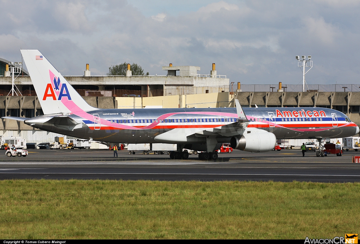
[[[311,55],[309,84],[360,84],[359,13],[359,0],[0,0],[0,57],[39,49],[63,75],[216,63],[231,82],[299,84],[295,56]]]

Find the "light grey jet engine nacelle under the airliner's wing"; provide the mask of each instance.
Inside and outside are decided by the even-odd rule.
[[[275,148],[275,144],[276,137],[270,132],[248,133],[230,140],[232,148],[248,152],[269,152]]]

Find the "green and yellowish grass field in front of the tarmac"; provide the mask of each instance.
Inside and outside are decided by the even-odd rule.
[[[3,239],[305,239],[358,233],[360,184],[0,181]]]

